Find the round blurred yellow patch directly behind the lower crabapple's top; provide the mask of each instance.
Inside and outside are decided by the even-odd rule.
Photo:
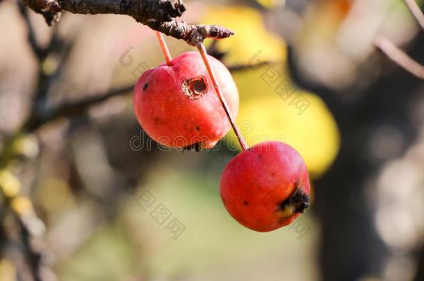
[[[301,114],[293,104],[300,97],[309,102]],[[286,101],[275,93],[261,94],[240,106],[237,121],[250,146],[272,139],[293,146],[306,162],[311,178],[324,173],[339,151],[339,128],[331,112],[309,92],[296,90]],[[231,134],[232,143],[235,136]]]

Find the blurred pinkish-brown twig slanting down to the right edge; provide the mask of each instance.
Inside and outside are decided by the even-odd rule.
[[[404,51],[400,50],[389,39],[383,36],[375,38],[374,45],[386,54],[388,58],[396,62],[400,67],[414,74],[416,77],[424,79],[424,67],[410,58]]]

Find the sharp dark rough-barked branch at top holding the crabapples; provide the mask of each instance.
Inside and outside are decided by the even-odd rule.
[[[24,0],[51,25],[60,18],[60,12],[67,10],[74,14],[117,14],[129,15],[137,22],[145,24],[177,39],[185,40],[192,46],[199,46],[206,38],[226,38],[234,32],[222,26],[190,25],[177,22],[186,10],[182,0]],[[51,8],[50,8],[51,7]],[[51,12],[56,12],[51,17]],[[50,21],[48,19],[51,19]]]

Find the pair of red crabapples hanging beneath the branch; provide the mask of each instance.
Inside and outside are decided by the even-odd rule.
[[[229,70],[209,56],[222,98],[233,117],[238,91]],[[199,53],[183,53],[171,65],[149,69],[133,92],[136,117],[156,142],[172,148],[212,148],[231,125]],[[245,227],[266,232],[293,222],[309,203],[302,157],[282,142],[262,142],[234,157],[222,173],[220,195]]]

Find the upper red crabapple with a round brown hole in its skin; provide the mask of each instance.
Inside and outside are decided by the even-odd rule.
[[[211,56],[209,59],[235,118],[236,84],[225,65]],[[134,88],[133,107],[147,135],[172,148],[211,148],[231,128],[197,52],[182,53],[172,65],[145,71]]]

